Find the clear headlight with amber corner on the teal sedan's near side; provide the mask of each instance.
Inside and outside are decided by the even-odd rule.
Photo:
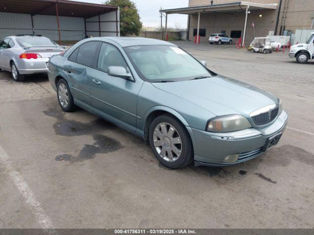
[[[233,132],[251,128],[247,118],[242,115],[226,115],[210,119],[207,124],[209,132]]]

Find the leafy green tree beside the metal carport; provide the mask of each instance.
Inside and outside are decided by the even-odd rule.
[[[107,0],[105,4],[119,6],[120,8],[120,34],[139,35],[142,28],[142,22],[137,12],[134,2],[131,0]]]

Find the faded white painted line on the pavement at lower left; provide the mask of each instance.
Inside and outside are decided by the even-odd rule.
[[[42,229],[51,229],[52,222],[45,211],[41,208],[40,203],[36,200],[34,193],[30,190],[27,183],[18,171],[10,164],[9,157],[0,145],[0,161],[6,168],[6,171],[12,178],[15,186],[19,189],[31,211],[36,216],[38,223]],[[52,232],[52,231],[50,231]]]

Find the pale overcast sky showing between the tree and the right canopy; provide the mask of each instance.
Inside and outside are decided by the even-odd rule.
[[[77,0],[90,3],[102,3],[105,0]],[[172,9],[187,7],[188,0],[132,0],[139,11],[139,16],[144,27],[160,27],[160,7],[162,9]],[[162,25],[165,24],[163,17]],[[168,15],[168,27],[186,28],[187,16],[174,14]]]

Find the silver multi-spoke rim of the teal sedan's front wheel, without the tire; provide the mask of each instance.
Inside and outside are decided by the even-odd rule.
[[[182,153],[182,141],[176,128],[167,123],[157,124],[153,135],[154,145],[159,156],[167,162],[177,161]]]

